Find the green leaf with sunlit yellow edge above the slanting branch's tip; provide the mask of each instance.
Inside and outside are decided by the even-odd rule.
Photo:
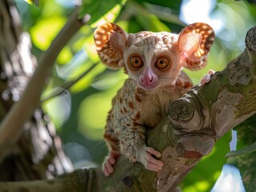
[[[98,26],[99,23],[114,22],[126,0],[83,0],[79,10],[79,18],[89,14],[91,26]]]

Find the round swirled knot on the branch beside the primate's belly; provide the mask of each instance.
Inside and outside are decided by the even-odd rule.
[[[190,102],[185,102],[184,100],[177,100],[173,102],[170,106],[169,114],[176,122],[190,122],[193,118],[194,108]]]

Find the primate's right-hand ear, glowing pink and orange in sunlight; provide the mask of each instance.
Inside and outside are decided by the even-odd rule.
[[[206,66],[214,38],[213,28],[206,23],[195,22],[186,26],[178,38],[181,65],[189,70],[200,70]]]

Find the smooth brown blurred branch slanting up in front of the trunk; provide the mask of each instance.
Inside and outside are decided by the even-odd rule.
[[[51,75],[51,68],[55,63],[60,50],[67,44],[69,39],[83,26],[75,12],[58,36],[51,43],[51,46],[39,59],[39,66],[35,74],[26,86],[22,98],[12,106],[9,113],[1,122],[0,126],[0,160],[17,142],[22,132],[22,126],[31,117],[36,107],[39,106],[39,99]]]

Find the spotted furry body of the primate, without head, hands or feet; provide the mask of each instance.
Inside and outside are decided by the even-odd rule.
[[[170,86],[169,90],[143,90],[132,79],[127,79],[113,98],[108,114],[104,138],[109,149],[120,151],[136,162],[136,152],[145,142],[146,130],[155,127],[167,113],[170,102],[191,87],[192,82],[183,72],[177,85]]]

